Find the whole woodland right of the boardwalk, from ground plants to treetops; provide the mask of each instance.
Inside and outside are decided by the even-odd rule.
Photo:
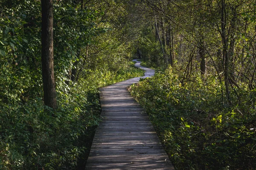
[[[138,49],[160,71],[131,88],[177,169],[256,169],[256,4],[141,0]],[[145,20],[146,16],[146,20]]]

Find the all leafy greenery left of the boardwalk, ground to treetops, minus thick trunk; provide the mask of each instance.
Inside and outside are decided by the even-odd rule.
[[[40,1],[0,2],[1,170],[83,169],[100,121],[98,88],[143,74],[115,26],[122,4],[81,2],[54,1],[55,110],[42,100]]]

